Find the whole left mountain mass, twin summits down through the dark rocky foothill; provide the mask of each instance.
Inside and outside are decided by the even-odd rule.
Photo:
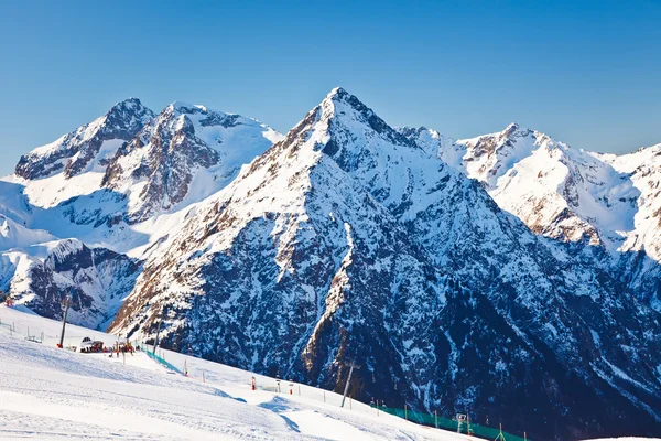
[[[279,138],[256,120],[204,106],[174,103],[155,115],[137,98],[118,103],[105,116],[23,155],[15,173],[0,181],[0,289],[36,312],[59,314],[55,293],[64,297],[68,282],[43,265],[76,237],[94,247],[93,255],[113,256],[132,268],[118,268],[116,282],[106,284],[67,276],[69,284],[83,287],[78,297],[87,299],[75,304],[73,320],[107,326],[132,289],[141,249],[176,228],[191,205],[226,185]],[[212,160],[201,161],[205,154]],[[89,260],[86,252],[65,256],[72,266]]]

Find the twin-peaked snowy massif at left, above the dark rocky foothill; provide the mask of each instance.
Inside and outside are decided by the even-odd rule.
[[[117,138],[118,132],[126,133],[126,127],[131,127],[132,136]],[[57,237],[73,235],[124,252],[152,239],[150,234],[143,237],[152,226],[134,224],[163,215],[176,217],[177,212],[223,189],[241,165],[280,138],[268,126],[239,115],[180,101],[154,115],[132,98],[63,137],[65,141],[22,157],[15,174],[3,179],[4,185],[15,186],[8,195],[20,195],[22,202],[2,197],[0,203],[19,205],[12,212],[14,220],[29,228],[48,229]],[[78,150],[91,151],[93,143],[97,155],[88,166],[77,174],[67,173],[69,165],[62,164],[77,161]],[[73,150],[72,158],[63,157]],[[30,174],[24,163],[31,164],[30,170],[50,172]]]

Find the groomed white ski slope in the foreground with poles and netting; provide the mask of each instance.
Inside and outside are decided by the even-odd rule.
[[[58,322],[4,305],[0,320],[3,440],[469,439],[377,415],[356,401],[342,409],[342,396],[303,385],[282,381],[281,394],[253,391],[249,372],[167,351],[163,355],[173,365],[183,369],[185,361],[189,377],[142,353],[127,356],[124,365],[102,354],[57,349]],[[17,329],[11,336],[8,324]],[[44,343],[25,341],[28,329],[37,340],[43,332]],[[67,325],[66,335],[65,346],[84,336],[107,344],[116,340],[74,325]],[[260,387],[275,387],[273,378],[254,377]]]

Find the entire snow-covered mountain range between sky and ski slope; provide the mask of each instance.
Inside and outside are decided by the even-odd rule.
[[[285,136],[136,98],[0,181],[35,312],[534,440],[661,434],[661,144],[455,140],[332,90]]]

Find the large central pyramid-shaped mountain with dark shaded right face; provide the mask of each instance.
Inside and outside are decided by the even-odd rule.
[[[337,89],[147,259],[112,330],[153,336],[164,310],[178,351],[326,387],[354,359],[364,398],[524,401],[561,439],[658,419],[658,313],[574,252]]]

